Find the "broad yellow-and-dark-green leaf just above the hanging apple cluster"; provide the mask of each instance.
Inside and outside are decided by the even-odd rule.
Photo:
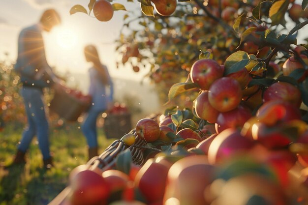
[[[237,51],[231,54],[224,63],[224,75],[237,72],[244,68],[250,60],[245,51]]]

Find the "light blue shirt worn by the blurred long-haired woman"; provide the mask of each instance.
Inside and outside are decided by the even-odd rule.
[[[105,69],[108,77],[108,82],[106,84],[102,83],[98,71],[94,67],[89,69],[89,94],[92,96],[92,109],[99,111],[105,111],[107,109],[108,103],[113,101],[114,92],[113,83],[110,78],[108,69],[106,66],[103,66],[103,69]]]

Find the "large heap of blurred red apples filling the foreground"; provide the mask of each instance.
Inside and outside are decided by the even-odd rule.
[[[275,113],[283,113],[277,112],[278,107],[274,113],[267,109],[266,106],[260,108],[256,123],[270,123],[267,120]],[[284,117],[274,116],[276,120],[271,120],[271,126],[277,121],[291,122],[287,118],[292,110],[287,110],[289,107]],[[281,139],[281,144],[277,143],[273,148],[255,139],[254,134],[249,136],[248,133],[254,132],[253,126],[248,126],[251,120],[242,129],[227,128],[216,133],[209,124],[199,130],[183,128],[184,121],[178,124],[179,116],[176,113],[160,120],[144,118],[137,122],[138,138],[147,141],[148,145],[159,141],[168,146],[160,146],[163,151],[147,155],[141,166],[131,163],[126,172],[116,169],[103,172],[88,165],[75,168],[70,174],[71,192],[67,205],[308,203],[308,152],[304,148],[308,146],[308,128],[303,123],[298,127],[299,121],[293,121],[292,126],[298,128],[299,137],[293,143],[295,146],[288,149]],[[126,137],[123,141],[128,143],[127,146],[134,146],[133,135]],[[279,139],[276,137],[274,141]]]

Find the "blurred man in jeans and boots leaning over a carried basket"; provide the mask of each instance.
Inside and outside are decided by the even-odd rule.
[[[53,166],[49,149],[49,124],[43,101],[43,88],[60,88],[60,80],[45,56],[42,32],[49,32],[61,23],[56,10],[47,9],[38,23],[21,30],[18,37],[18,57],[14,69],[20,75],[28,127],[24,129],[13,164],[26,163],[25,154],[36,135],[43,156],[43,166]]]

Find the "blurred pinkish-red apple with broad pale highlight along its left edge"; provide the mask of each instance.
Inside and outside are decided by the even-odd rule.
[[[250,139],[243,137],[240,130],[228,128],[220,132],[211,143],[208,158],[216,164],[239,152],[247,151],[254,145]]]

